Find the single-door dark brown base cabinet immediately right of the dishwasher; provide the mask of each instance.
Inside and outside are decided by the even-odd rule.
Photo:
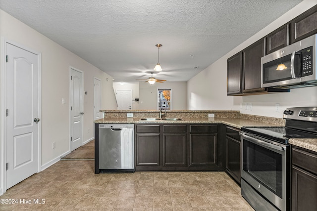
[[[136,170],[160,169],[160,126],[159,125],[136,125],[135,140]]]

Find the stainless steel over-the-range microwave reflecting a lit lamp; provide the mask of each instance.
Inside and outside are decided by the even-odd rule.
[[[261,58],[261,87],[317,85],[317,34]]]

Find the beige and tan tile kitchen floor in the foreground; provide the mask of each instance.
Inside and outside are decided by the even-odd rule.
[[[253,211],[225,172],[94,174],[92,160],[59,161],[0,199],[17,202],[1,203],[1,211]]]

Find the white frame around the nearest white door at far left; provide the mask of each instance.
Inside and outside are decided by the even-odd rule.
[[[0,195],[2,193],[5,193],[6,192],[6,147],[7,147],[7,143],[6,143],[6,140],[7,140],[7,134],[6,134],[6,128],[7,128],[7,125],[6,125],[6,93],[7,93],[7,90],[6,90],[6,43],[10,43],[12,45],[15,45],[17,47],[20,47],[26,51],[29,51],[35,55],[38,56],[38,67],[39,67],[39,75],[38,75],[38,86],[39,86],[39,91],[38,91],[38,111],[39,111],[39,119],[41,120],[40,122],[38,122],[38,127],[39,127],[39,130],[38,130],[38,168],[37,168],[37,172],[40,172],[41,171],[41,157],[42,157],[42,151],[41,151],[41,148],[42,148],[42,145],[41,145],[41,137],[42,137],[42,102],[41,102],[41,94],[42,94],[42,78],[41,78],[41,73],[42,73],[42,65],[41,65],[41,58],[42,58],[42,54],[39,53],[38,51],[35,51],[33,49],[30,49],[29,47],[26,47],[20,43],[17,43],[17,42],[13,42],[13,41],[9,41],[9,40],[6,40],[4,39],[3,37],[1,37],[1,45],[0,48],[1,48],[1,52],[0,52],[0,55],[1,55],[1,59],[2,59],[2,66],[0,67],[0,76],[1,76],[1,105],[0,105],[0,108],[1,108],[1,115],[0,115],[0,118],[1,118],[1,128],[0,128],[0,131],[1,131],[1,136],[0,136]],[[2,187],[2,190],[1,190],[1,187]]]

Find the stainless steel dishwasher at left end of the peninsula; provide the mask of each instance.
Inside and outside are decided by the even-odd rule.
[[[99,125],[99,169],[135,171],[134,125]]]

